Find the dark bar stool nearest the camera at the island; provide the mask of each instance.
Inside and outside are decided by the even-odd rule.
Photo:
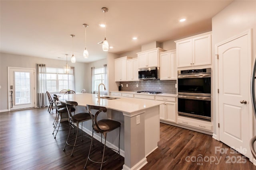
[[[92,149],[92,145],[93,145],[93,142],[91,141],[91,146],[90,146],[90,150],[89,150],[89,153],[88,153],[88,156],[87,156],[87,160],[86,160],[86,164],[84,166],[84,169],[86,169],[87,162],[88,162],[88,160],[90,160],[90,161],[95,162],[95,163],[101,163],[101,166],[100,166],[100,170],[101,170],[102,169],[102,164],[107,161],[106,160],[106,161],[103,162],[105,148],[106,148],[107,133],[110,132],[110,131],[113,131],[114,129],[117,129],[118,127],[119,127],[119,141],[118,141],[118,152],[117,153],[119,154],[119,160],[120,160],[120,127],[121,127],[121,123],[118,122],[118,121],[111,120],[111,119],[97,120],[98,114],[100,114],[102,111],[103,112],[107,111],[106,107],[87,105],[87,109],[88,109],[88,111],[90,113],[90,116],[91,116],[91,119],[92,119],[92,141],[93,141],[93,134],[94,134],[94,132],[96,132],[96,133],[101,133],[101,146],[100,147],[102,147],[102,134],[105,138],[105,142],[104,142],[102,160],[101,160],[101,162],[96,162],[96,161],[94,161],[90,158],[90,155],[96,151],[96,149],[95,149],[91,153],[91,149]],[[94,117],[91,113],[92,109],[98,110],[95,113]],[[107,147],[107,148],[109,148],[109,147]],[[112,148],[110,148],[110,149],[112,149]],[[112,149],[112,150],[117,151],[115,149]]]

